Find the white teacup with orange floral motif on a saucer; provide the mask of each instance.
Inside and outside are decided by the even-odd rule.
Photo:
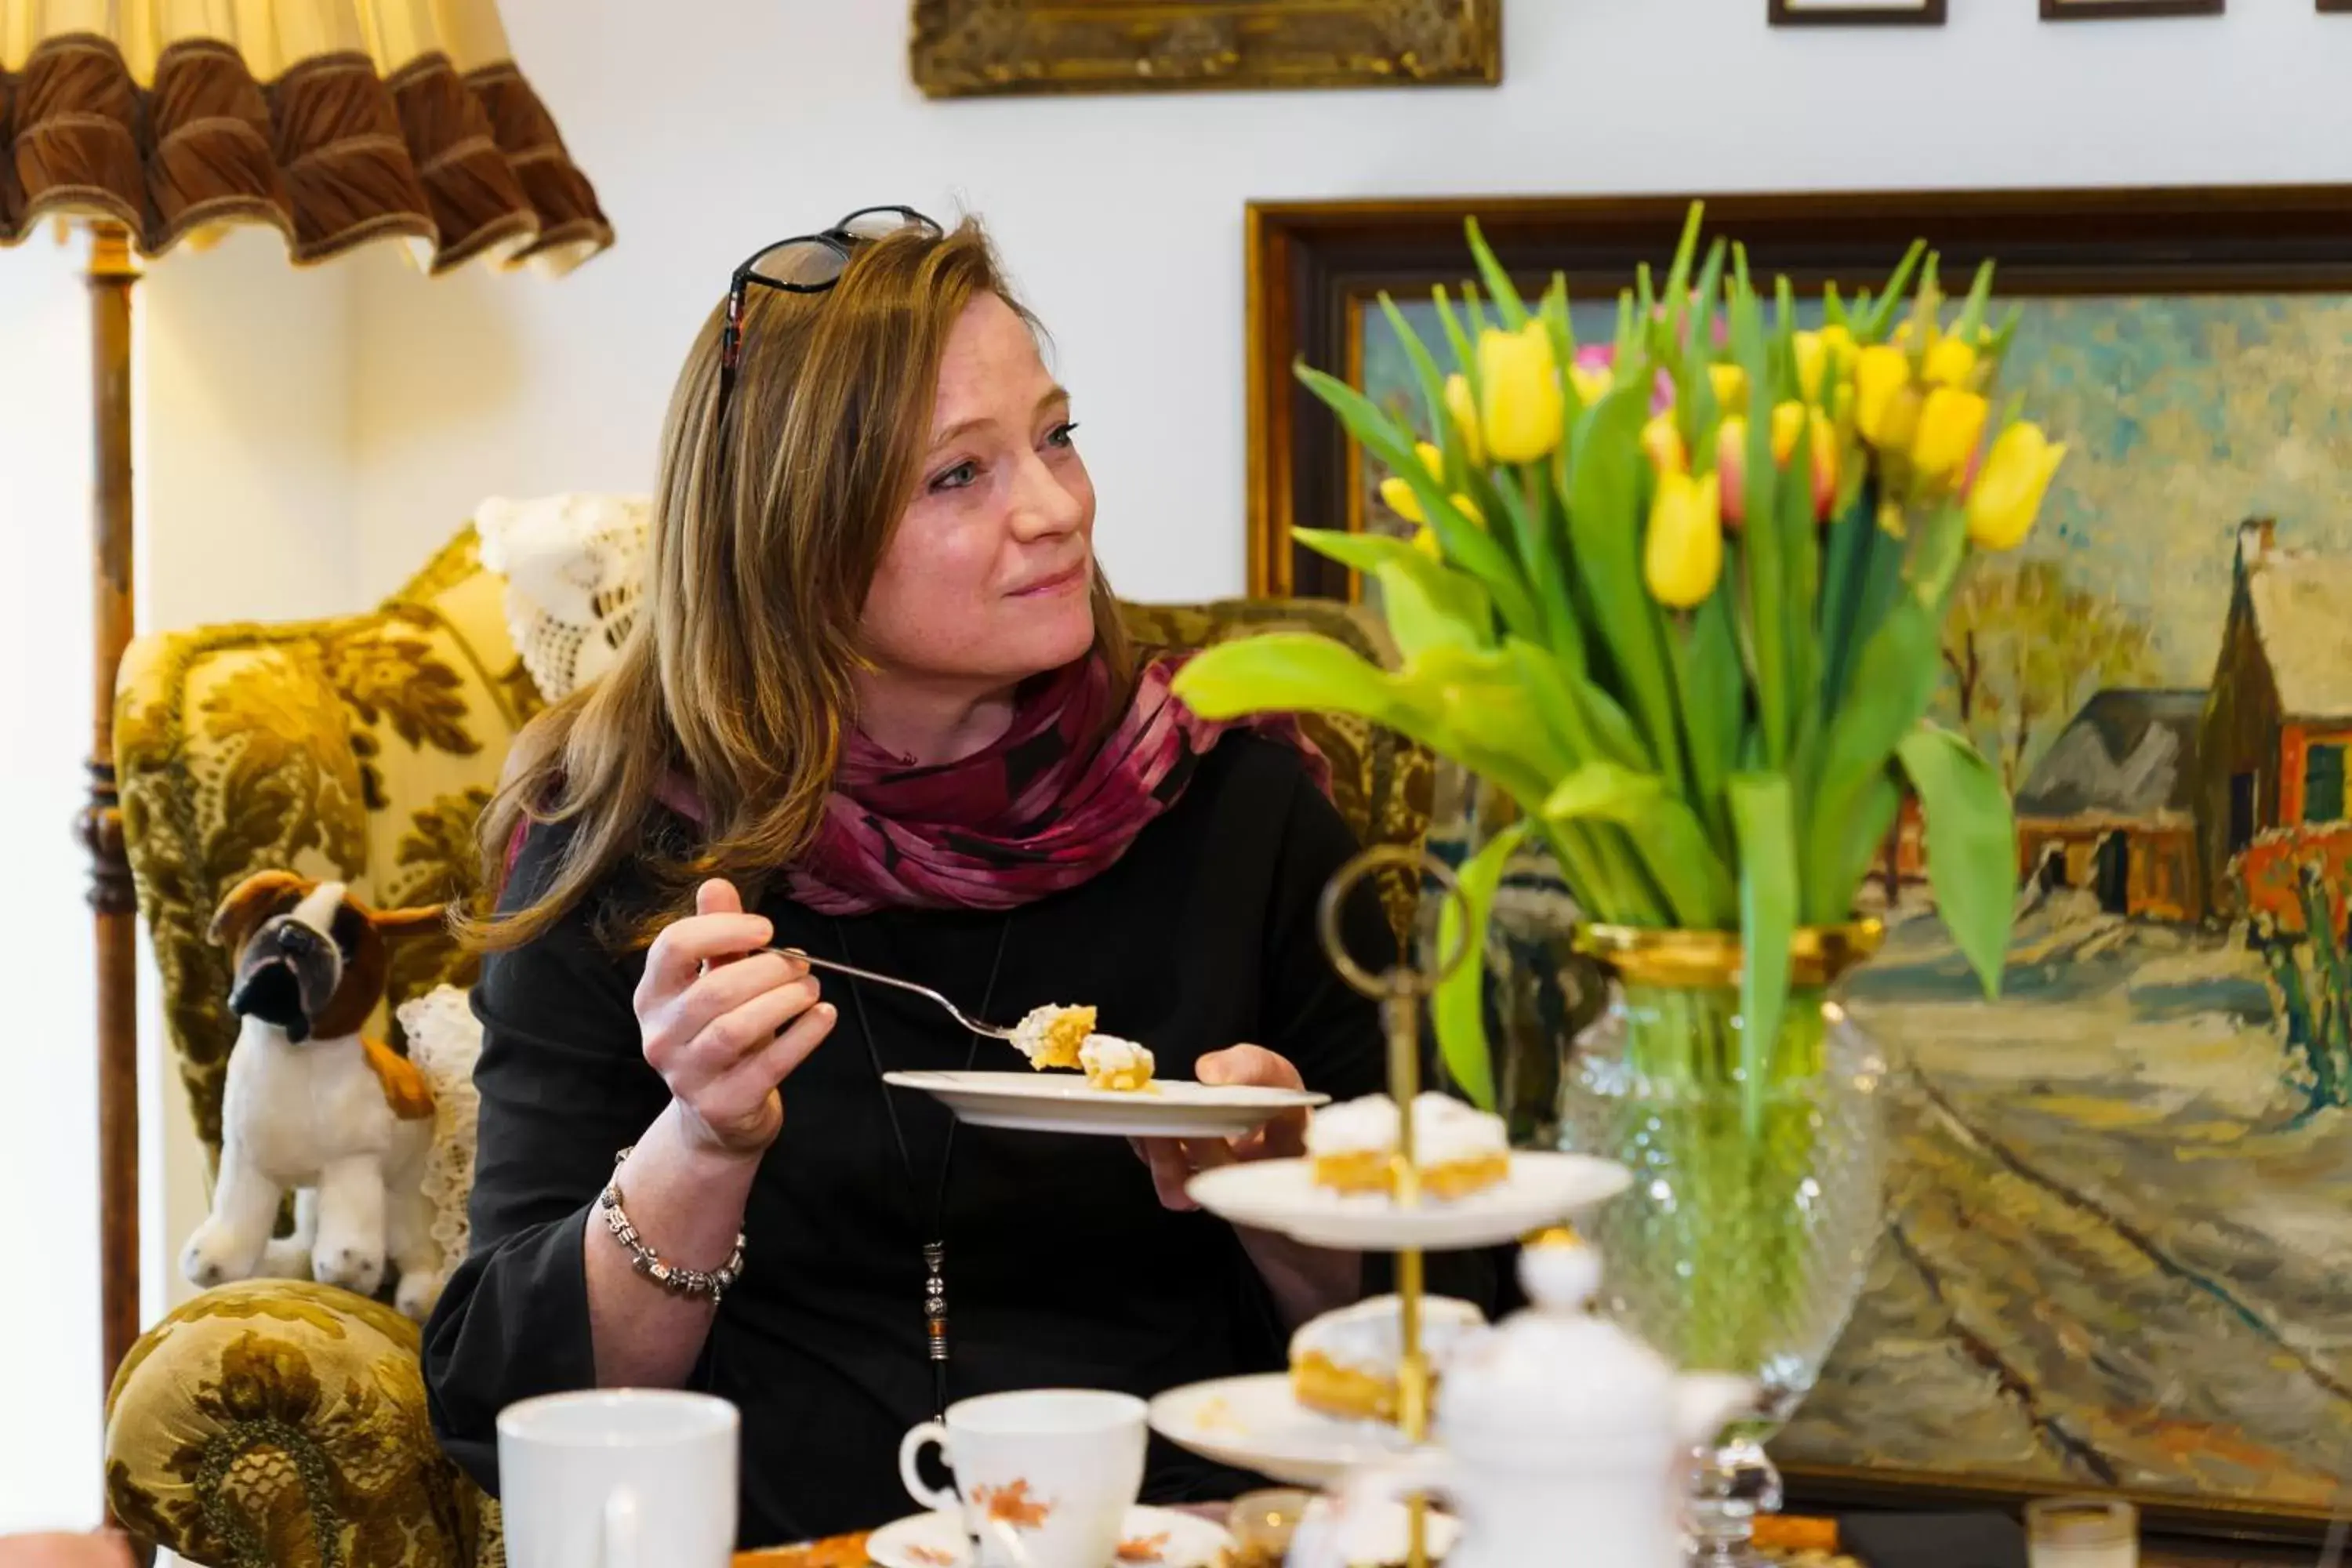
[[[983,1568],[1105,1568],[1143,1488],[1143,1401],[1096,1389],[981,1394],[898,1443],[898,1479],[964,1516]],[[915,1458],[938,1443],[955,1490],[922,1483]],[[962,1495],[957,1495],[962,1493]]]

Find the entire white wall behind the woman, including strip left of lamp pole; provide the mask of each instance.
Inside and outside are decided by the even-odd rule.
[[[642,489],[677,357],[755,244],[847,207],[969,207],[1061,343],[1115,581],[1242,588],[1242,202],[2352,179],[2352,19],[1766,31],[1764,0],[1510,0],[1498,89],[924,103],[903,0],[503,0],[517,56],[621,230],[562,282],[294,275],[254,235],[141,284],[141,618],[353,609],[485,494]],[[1672,82],[1672,101],[1663,85]],[[0,823],[16,898],[0,1192],[0,1530],[94,1514],[92,1070],[80,851],[87,346],[71,256],[0,252]],[[153,1006],[153,987],[148,992]],[[153,1013],[148,1048],[158,1048]],[[202,1211],[151,1060],[155,1309]]]

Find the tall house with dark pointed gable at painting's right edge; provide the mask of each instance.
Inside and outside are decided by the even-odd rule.
[[[2345,820],[2352,748],[2352,557],[2281,550],[2263,517],[2237,531],[2230,621],[2197,736],[2204,882],[2227,886],[2253,835]]]

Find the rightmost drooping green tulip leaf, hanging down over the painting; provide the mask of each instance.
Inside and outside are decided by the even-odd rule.
[[[1896,755],[1926,816],[1926,875],[1945,931],[1969,954],[1985,994],[2002,990],[2009,917],[2018,884],[2018,825],[2009,792],[1983,752],[1936,724],[1919,724]]]

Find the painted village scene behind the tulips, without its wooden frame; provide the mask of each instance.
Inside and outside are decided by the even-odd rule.
[[[1406,395],[1378,322],[1362,348]],[[2352,299],[2025,301],[2009,362],[2072,456],[1945,630],[1943,717],[2016,792],[2016,945],[1987,1004],[1915,919],[1907,823],[1851,987],[1898,1065],[1891,1222],[1776,1453],[2324,1516],[2352,1465]]]

